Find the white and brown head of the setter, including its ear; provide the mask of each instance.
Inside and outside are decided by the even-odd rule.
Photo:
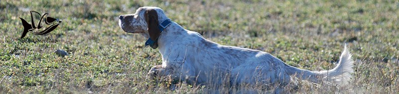
[[[134,14],[119,15],[119,26],[127,33],[137,33],[156,40],[161,35],[159,21],[165,20],[164,11],[159,7],[140,7]]]

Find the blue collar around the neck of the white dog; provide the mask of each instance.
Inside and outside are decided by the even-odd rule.
[[[159,31],[162,32],[164,31],[164,29],[166,27],[168,27],[170,24],[172,24],[171,19],[166,19],[164,21],[161,22],[161,24],[158,25]],[[159,37],[158,37],[159,38]],[[158,47],[158,38],[156,38],[155,40],[151,40],[150,38],[148,38],[147,42],[145,42],[145,46],[150,46],[152,48],[157,48]]]

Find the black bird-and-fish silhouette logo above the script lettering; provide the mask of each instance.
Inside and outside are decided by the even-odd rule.
[[[40,15],[40,13],[36,12],[36,11],[30,11],[30,17],[31,17],[31,24],[26,22],[26,20],[20,18],[22,21],[22,25],[23,25],[23,33],[22,33],[21,39],[23,37],[25,37],[26,33],[28,33],[28,32],[30,32],[34,35],[43,35],[43,34],[50,33],[55,28],[57,28],[57,26],[62,22],[58,19],[49,17],[48,13],[45,13],[44,15]],[[35,19],[37,20],[39,18],[40,18],[40,20],[37,22],[38,24],[35,24]],[[42,22],[46,23],[47,25],[51,24],[51,26],[44,28],[41,25]],[[40,30],[41,28],[43,28],[44,30],[41,31]]]

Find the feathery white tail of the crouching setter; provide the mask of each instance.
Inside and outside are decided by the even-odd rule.
[[[303,80],[308,80],[313,83],[327,81],[341,86],[347,85],[349,83],[348,81],[352,77],[351,73],[353,73],[353,60],[351,57],[352,55],[349,53],[349,49],[345,45],[344,51],[342,51],[342,54],[339,57],[337,66],[331,70],[309,71],[288,65],[287,73],[296,75]]]

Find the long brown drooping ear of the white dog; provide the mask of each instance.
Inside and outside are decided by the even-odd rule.
[[[157,40],[159,35],[161,35],[161,31],[158,28],[158,13],[155,9],[147,9],[145,11],[145,20],[147,21],[148,25],[148,33],[150,34],[151,40]]]

